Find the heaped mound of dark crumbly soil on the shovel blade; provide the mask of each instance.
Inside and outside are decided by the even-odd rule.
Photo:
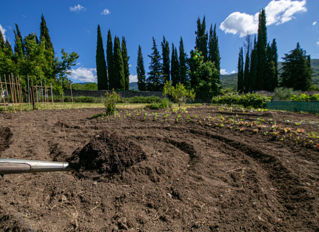
[[[83,177],[121,174],[146,158],[142,148],[119,137],[116,133],[101,131],[83,148],[77,148],[67,159],[72,168]]]

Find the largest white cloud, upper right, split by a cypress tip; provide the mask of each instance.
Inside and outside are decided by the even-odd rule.
[[[266,25],[283,24],[293,18],[296,13],[307,11],[305,7],[306,0],[272,0],[266,7]],[[258,31],[259,12],[254,15],[249,15],[241,12],[231,13],[219,26],[225,33],[239,34],[239,37],[244,37],[249,34],[255,34]]]

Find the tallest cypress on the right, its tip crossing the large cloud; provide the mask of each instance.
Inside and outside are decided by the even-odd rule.
[[[265,71],[267,62],[267,28],[266,13],[262,9],[259,11],[258,38],[257,38],[257,90],[262,90],[265,84]]]

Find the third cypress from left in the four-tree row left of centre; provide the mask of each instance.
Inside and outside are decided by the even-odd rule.
[[[114,38],[114,88],[118,90],[125,89],[125,76],[124,76],[124,63],[122,58],[120,39],[115,36]]]

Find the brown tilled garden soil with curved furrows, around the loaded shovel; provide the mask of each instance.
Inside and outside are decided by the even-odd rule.
[[[141,154],[130,163],[119,150],[118,161],[128,165],[93,179],[71,172],[4,175],[0,231],[319,230],[319,144],[305,136],[319,132],[317,115],[187,111],[167,116],[122,109],[120,117],[100,118],[92,116],[102,109],[1,114],[0,158],[72,161],[73,151],[73,158],[87,155],[85,145],[97,135],[111,141],[116,133],[146,159]],[[114,164],[109,151],[102,160],[109,154]]]

